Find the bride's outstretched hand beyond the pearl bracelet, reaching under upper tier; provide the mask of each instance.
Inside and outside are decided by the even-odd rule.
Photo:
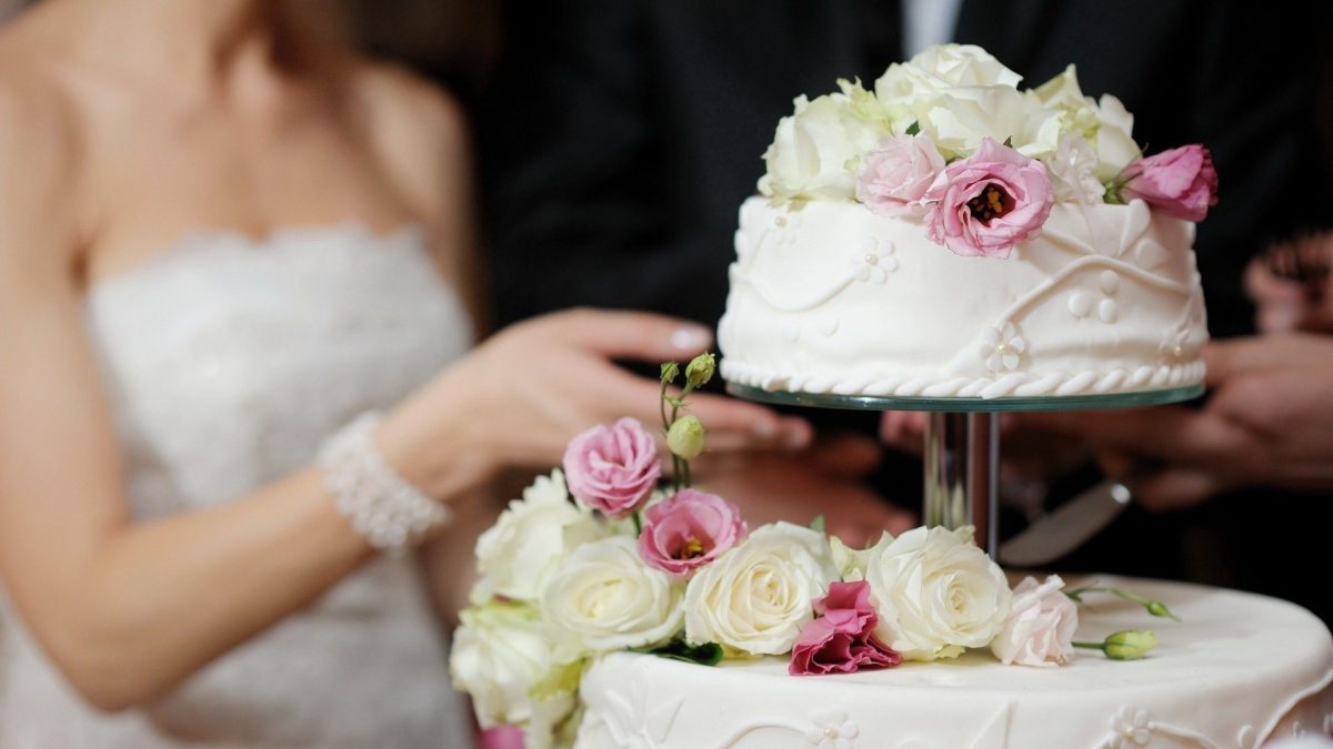
[[[615,360],[688,361],[712,343],[694,323],[643,312],[575,309],[528,320],[487,340],[389,414],[380,445],[432,493],[507,465],[549,466],[579,432],[632,416],[653,432],[659,382]],[[800,418],[696,393],[710,452],[794,449],[810,441]]]

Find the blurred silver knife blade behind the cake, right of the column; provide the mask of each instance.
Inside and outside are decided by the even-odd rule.
[[[1129,486],[1102,481],[1000,544],[1000,562],[1038,566],[1058,560],[1110,525],[1132,498]]]

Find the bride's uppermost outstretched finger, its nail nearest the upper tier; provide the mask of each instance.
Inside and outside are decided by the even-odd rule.
[[[543,319],[549,335],[612,359],[666,361],[702,353],[713,343],[704,325],[649,312],[573,309]]]

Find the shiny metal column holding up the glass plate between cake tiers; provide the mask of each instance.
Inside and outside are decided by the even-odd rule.
[[[925,426],[925,524],[976,528],[977,546],[998,553],[997,414],[929,412]]]

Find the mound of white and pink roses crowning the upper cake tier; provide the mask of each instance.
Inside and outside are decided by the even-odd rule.
[[[922,220],[957,255],[1008,257],[1041,233],[1054,201],[1142,200],[1186,221],[1217,204],[1208,149],[1144,157],[1114,96],[1093,100],[1074,67],[1018,89],[1021,76],[980,47],[932,47],[866,89],[796,99],[764,153],[762,195],[856,200]]]

